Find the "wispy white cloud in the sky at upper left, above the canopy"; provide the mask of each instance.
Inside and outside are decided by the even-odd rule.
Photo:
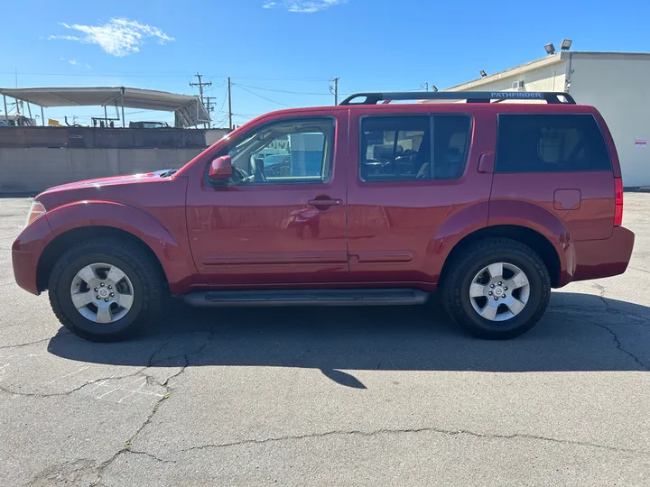
[[[331,1],[331,0],[327,0]],[[51,35],[49,40],[78,41],[84,44],[98,44],[111,56],[122,57],[140,51],[144,42],[153,39],[159,44],[174,41],[158,27],[130,21],[128,19],[110,19],[103,25],[80,25],[60,23],[66,29],[81,32],[83,35]]]

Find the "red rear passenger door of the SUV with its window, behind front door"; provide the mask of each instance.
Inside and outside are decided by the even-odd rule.
[[[395,113],[398,108],[351,111],[352,280],[435,282],[443,263],[436,245],[450,236],[445,233],[487,225],[492,174],[478,173],[477,166],[482,152],[494,152],[494,124],[458,108]],[[476,136],[490,127],[492,137]],[[475,209],[461,225],[443,227],[469,207]]]

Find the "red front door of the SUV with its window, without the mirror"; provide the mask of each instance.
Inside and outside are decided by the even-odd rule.
[[[347,279],[343,115],[261,121],[217,154],[232,158],[228,184],[190,185],[190,245],[210,285]]]

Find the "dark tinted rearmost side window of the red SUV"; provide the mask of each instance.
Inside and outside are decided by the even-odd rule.
[[[496,172],[611,170],[607,143],[589,114],[498,115]]]

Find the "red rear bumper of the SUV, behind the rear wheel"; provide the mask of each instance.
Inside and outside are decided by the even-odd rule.
[[[622,274],[627,269],[635,234],[622,226],[606,240],[574,242],[575,271],[571,280],[590,280]]]

